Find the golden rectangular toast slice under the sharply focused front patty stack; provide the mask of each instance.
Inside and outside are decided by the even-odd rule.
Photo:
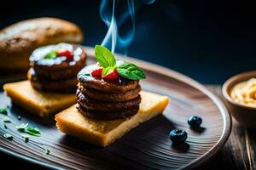
[[[162,113],[169,98],[142,91],[140,110],[135,116],[114,121],[90,119],[76,109],[76,105],[55,116],[56,126],[63,133],[75,136],[91,144],[107,146],[126,132]]]

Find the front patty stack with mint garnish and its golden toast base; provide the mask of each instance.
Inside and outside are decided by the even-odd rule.
[[[116,61],[96,46],[96,65],[79,71],[77,104],[55,116],[63,132],[91,144],[107,146],[133,127],[164,111],[168,97],[141,91],[145,74],[137,65]]]

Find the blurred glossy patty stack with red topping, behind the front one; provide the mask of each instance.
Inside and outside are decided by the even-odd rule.
[[[77,74],[85,65],[84,50],[77,45],[66,43],[57,46],[60,48],[59,51],[51,52],[51,49],[55,48],[53,45],[45,46],[32,53],[31,68],[27,77],[32,87],[37,90],[61,94],[74,93],[78,83]],[[49,51],[49,56],[42,55],[45,50]]]

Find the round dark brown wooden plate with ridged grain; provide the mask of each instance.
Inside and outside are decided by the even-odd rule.
[[[93,49],[85,49],[88,63],[95,62]],[[59,132],[54,116],[43,119],[28,115],[1,92],[0,108],[9,105],[12,122],[5,123],[8,128],[4,128],[1,121],[0,150],[57,169],[190,169],[214,156],[230,135],[230,115],[223,103],[189,77],[141,60],[124,59],[146,72],[148,78],[141,82],[144,90],[170,96],[171,103],[164,116],[143,123],[107,148],[101,148]],[[189,128],[187,119],[192,115],[202,117],[200,129]],[[0,119],[4,117],[0,115]],[[42,136],[24,142],[15,128],[21,122],[38,127]],[[173,128],[187,131],[189,137],[185,144],[172,145],[168,133]],[[11,133],[14,139],[4,139],[5,132]],[[49,155],[44,149],[50,150]]]

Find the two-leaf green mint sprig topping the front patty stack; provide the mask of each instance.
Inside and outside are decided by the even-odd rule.
[[[145,73],[137,67],[126,61],[116,61],[113,54],[108,48],[101,45],[95,46],[96,60],[103,67],[102,76],[108,75],[114,69],[119,73],[120,77],[131,80],[140,80],[146,78]],[[118,64],[117,64],[118,63]]]

